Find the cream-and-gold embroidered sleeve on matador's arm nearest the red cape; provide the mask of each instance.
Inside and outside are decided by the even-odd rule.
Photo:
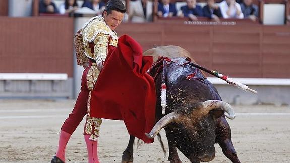
[[[108,52],[108,42],[110,35],[99,33],[96,39],[94,40],[94,55],[96,56],[96,63],[105,61]]]

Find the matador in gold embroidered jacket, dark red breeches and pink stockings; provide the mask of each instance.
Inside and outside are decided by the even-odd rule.
[[[72,113],[61,127],[59,147],[51,162],[65,162],[66,144],[85,115],[84,138],[89,163],[99,162],[97,140],[102,120],[90,116],[91,93],[109,49],[112,46],[117,47],[118,37],[114,29],[121,23],[125,12],[126,8],[121,0],[110,0],[107,2],[103,14],[91,18],[75,35],[77,64],[85,67],[81,92]]]

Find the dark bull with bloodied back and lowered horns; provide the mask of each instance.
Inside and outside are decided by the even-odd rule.
[[[187,62],[184,57],[172,61],[173,63],[166,66],[165,115],[162,115],[161,99],[157,98],[155,117],[158,122],[147,136],[154,137],[164,127],[170,162],[181,162],[176,148],[191,162],[211,161],[215,157],[215,143],[220,145],[224,155],[232,162],[240,162],[224,115],[226,111],[229,117],[234,116],[231,115],[231,106],[221,101],[217,90],[199,69],[183,65]],[[151,74],[156,74],[158,67],[152,71]],[[156,76],[155,84],[157,97],[160,97],[162,73]],[[130,135],[122,162],[133,162],[134,139]]]

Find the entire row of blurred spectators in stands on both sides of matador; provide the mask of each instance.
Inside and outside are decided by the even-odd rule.
[[[199,17],[207,17],[217,22],[220,21],[219,18],[249,18],[256,21],[259,13],[259,8],[253,4],[253,0],[223,0],[220,3],[216,3],[215,0],[205,0],[206,3],[197,3],[196,0],[184,1],[183,6],[177,7],[177,3],[171,3],[170,0],[159,0],[158,17],[188,17],[192,21],[197,21]],[[69,14],[80,7],[89,8],[95,11],[96,15],[101,15],[105,3],[103,0],[65,0],[57,7],[53,0],[40,0],[39,13]],[[152,11],[152,0],[131,0],[126,18],[132,22],[150,22]]]

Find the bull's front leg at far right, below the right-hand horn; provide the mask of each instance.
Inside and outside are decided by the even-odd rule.
[[[225,117],[219,118],[216,125],[216,142],[222,149],[223,154],[234,163],[240,163],[233,143],[231,142],[231,131]]]

